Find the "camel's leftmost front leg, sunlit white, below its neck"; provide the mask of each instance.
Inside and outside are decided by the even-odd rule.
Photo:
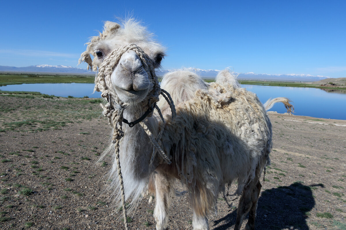
[[[174,194],[173,179],[164,173],[155,174],[155,198],[154,219],[156,230],[167,228],[169,218],[169,208]]]

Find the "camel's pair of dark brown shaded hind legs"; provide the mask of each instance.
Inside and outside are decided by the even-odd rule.
[[[255,229],[257,201],[258,197],[260,196],[261,188],[262,185],[257,177],[253,181],[248,183],[248,185],[244,188],[242,197],[240,197],[238,205],[237,219],[234,230],[239,230],[240,227],[242,227],[244,217],[248,212],[250,212],[249,219],[245,226],[245,229]]]

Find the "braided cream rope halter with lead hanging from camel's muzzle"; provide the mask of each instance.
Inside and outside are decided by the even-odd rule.
[[[174,118],[176,117],[174,103],[170,94],[160,88],[160,85],[158,84],[157,76],[155,74],[152,60],[141,48],[137,47],[136,44],[128,44],[126,46],[119,47],[113,50],[110,54],[108,54],[108,56],[104,59],[101,66],[99,66],[99,73],[97,77],[95,78],[95,91],[98,91],[98,92],[101,91],[102,92],[101,97],[106,98],[108,100],[107,104],[101,103],[100,106],[103,109],[103,116],[106,116],[108,118],[108,123],[113,128],[112,143],[115,143],[115,154],[116,154],[118,176],[119,176],[120,190],[121,190],[122,211],[124,215],[124,224],[125,224],[126,230],[128,230],[128,223],[127,223],[127,213],[126,213],[126,206],[125,206],[125,191],[124,191],[124,183],[122,180],[120,160],[119,160],[119,142],[120,142],[120,139],[124,137],[124,132],[122,131],[122,121],[124,119],[123,113],[124,113],[124,110],[126,109],[126,106],[124,105],[124,102],[122,102],[119,99],[117,93],[112,87],[111,74],[113,70],[115,69],[116,65],[118,64],[122,54],[124,54],[128,50],[133,50],[139,56],[140,61],[142,62],[142,66],[149,76],[149,80],[154,85],[153,89],[148,93],[146,99],[144,99],[141,102],[141,106],[144,110],[146,107],[148,107],[148,109],[155,108],[162,120],[162,124],[161,124],[162,127],[160,132],[157,135],[157,138],[153,136],[152,132],[149,130],[149,128],[143,121],[139,122],[140,126],[147,133],[149,139],[151,140],[154,146],[153,155],[150,161],[151,165],[153,163],[153,159],[155,157],[156,151],[160,153],[161,157],[167,163],[169,164],[171,163],[169,157],[167,157],[167,155],[162,150],[159,144],[160,138],[165,126],[165,121],[163,119],[161,110],[156,106],[156,102],[159,100],[158,97],[160,96],[160,94],[165,98],[167,103],[170,105],[170,108],[172,111],[172,119],[174,120]],[[115,104],[116,109],[113,107],[112,102]],[[148,114],[148,117],[151,117],[152,114],[153,113],[150,112]]]

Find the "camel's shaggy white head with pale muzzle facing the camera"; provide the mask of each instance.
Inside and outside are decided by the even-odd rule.
[[[106,69],[104,74],[111,74],[111,82],[105,79],[107,87],[113,87],[109,90],[114,90],[122,103],[136,106],[147,97],[155,84],[151,72],[160,68],[165,49],[144,26],[134,19],[123,22],[122,26],[107,21],[102,33],[86,44],[88,47],[81,54],[79,63],[87,62],[88,69],[91,67],[94,71],[97,67],[100,72]],[[113,63],[111,68],[107,67],[110,62]]]

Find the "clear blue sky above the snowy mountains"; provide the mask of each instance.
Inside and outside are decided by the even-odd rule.
[[[84,43],[104,21],[132,14],[167,47],[164,69],[346,77],[342,0],[14,0],[1,8],[1,66],[76,67]]]

